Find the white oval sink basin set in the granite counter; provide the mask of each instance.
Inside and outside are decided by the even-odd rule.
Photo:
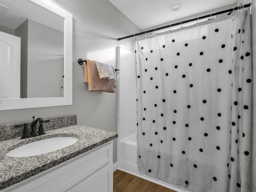
[[[70,146],[78,141],[75,137],[54,137],[22,145],[8,152],[9,157],[41,155]]]

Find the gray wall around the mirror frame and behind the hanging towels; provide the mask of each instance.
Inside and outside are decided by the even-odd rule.
[[[0,124],[77,115],[77,124],[117,132],[117,96],[114,93],[89,92],[84,83],[84,65],[78,58],[108,59],[116,67],[116,46],[133,52],[133,39],[116,38],[140,32],[108,0],[50,0],[73,14],[73,105],[0,111]],[[35,88],[35,91],[39,88]],[[117,161],[114,140],[114,162]]]

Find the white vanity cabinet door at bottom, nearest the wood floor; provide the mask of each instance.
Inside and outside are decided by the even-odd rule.
[[[71,188],[72,192],[113,192],[113,164],[96,171]]]

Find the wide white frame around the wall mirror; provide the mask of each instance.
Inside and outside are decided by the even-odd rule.
[[[64,97],[0,99],[0,110],[72,105],[72,14],[48,0],[29,1],[64,18]]]

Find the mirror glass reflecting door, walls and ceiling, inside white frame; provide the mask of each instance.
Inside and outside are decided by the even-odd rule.
[[[0,99],[64,97],[64,18],[0,0]]]

